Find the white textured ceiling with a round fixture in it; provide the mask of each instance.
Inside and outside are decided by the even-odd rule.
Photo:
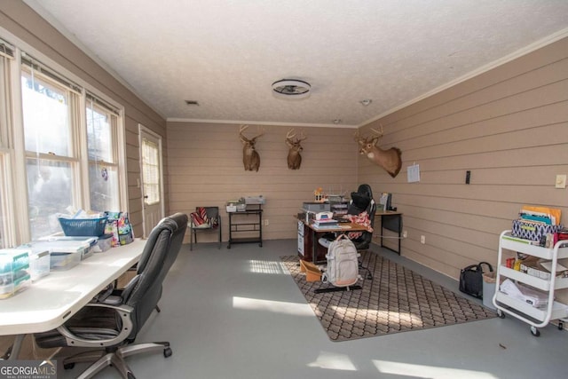
[[[211,122],[360,125],[568,28],[566,0],[26,3],[163,117]],[[311,96],[272,96],[284,78]]]

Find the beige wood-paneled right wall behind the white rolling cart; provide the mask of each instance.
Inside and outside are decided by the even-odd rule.
[[[562,209],[568,222],[568,190],[555,188],[556,174],[568,174],[568,38],[361,131],[379,124],[403,169],[393,179],[361,160],[359,181],[393,193],[408,233],[403,256],[457,279],[466,265],[497,264],[499,234],[522,205]],[[420,183],[407,183],[413,163]]]

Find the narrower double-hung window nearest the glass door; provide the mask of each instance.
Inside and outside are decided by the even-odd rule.
[[[87,95],[86,110],[91,209],[118,211],[118,111],[93,95]]]

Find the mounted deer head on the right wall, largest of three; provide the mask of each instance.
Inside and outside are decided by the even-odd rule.
[[[359,154],[367,155],[375,164],[383,167],[392,178],[395,178],[400,171],[402,161],[400,160],[400,149],[397,147],[390,147],[388,150],[383,150],[381,147],[376,146],[377,143],[383,138],[383,125],[381,131],[371,128],[375,133],[373,136],[359,138],[359,130],[355,133],[355,140],[359,143]]]

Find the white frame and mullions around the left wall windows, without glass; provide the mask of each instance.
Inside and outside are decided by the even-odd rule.
[[[14,46],[14,59],[10,62],[10,99],[8,100],[9,107],[12,113],[12,123],[7,125],[7,130],[0,130],[0,138],[5,139],[6,133],[11,138],[11,146],[6,148],[5,146],[0,146],[0,154],[2,154],[3,159],[0,160],[0,164],[4,164],[4,167],[8,170],[3,170],[4,167],[0,167],[3,173],[0,174],[0,186],[3,186],[3,193],[5,191],[4,197],[11,197],[11,199],[1,199],[3,201],[3,212],[4,219],[6,221],[4,229],[7,229],[5,235],[5,242],[8,247],[17,246],[21,243],[30,241],[30,229],[28,220],[28,191],[15,191],[15,188],[28,188],[27,173],[26,173],[26,150],[25,150],[25,139],[23,132],[23,114],[22,114],[22,102],[21,102],[21,58],[20,54],[22,51],[26,51],[28,54],[32,55],[36,59],[40,60],[45,66],[50,67],[52,70],[57,72],[79,84],[83,87],[79,102],[79,125],[73,130],[74,136],[76,138],[75,145],[75,156],[79,158],[77,165],[77,187],[75,188],[76,205],[83,209],[90,209],[90,193],[89,193],[89,162],[88,162],[88,152],[87,152],[87,130],[86,130],[86,92],[90,92],[94,96],[106,101],[106,103],[112,105],[118,110],[118,118],[116,122],[116,159],[118,164],[118,177],[119,177],[119,201],[120,208],[116,210],[129,211],[129,196],[128,196],[128,178],[127,178],[127,167],[126,167],[126,127],[124,121],[124,107],[118,104],[114,99],[110,99],[97,88],[94,88],[90,83],[86,83],[80,77],[69,72],[64,67],[61,67],[55,61],[45,57],[40,51],[28,43],[21,41],[18,37],[12,36],[12,34],[0,27],[0,38],[7,40]],[[58,157],[65,159],[63,157]],[[4,204],[7,204],[4,208]],[[109,209],[113,210],[113,209]],[[4,233],[4,231],[3,231]]]

